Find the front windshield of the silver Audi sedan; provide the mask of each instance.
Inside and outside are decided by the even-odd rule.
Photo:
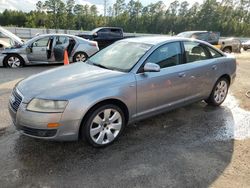
[[[151,46],[128,41],[116,42],[89,58],[89,62],[99,67],[128,72]]]

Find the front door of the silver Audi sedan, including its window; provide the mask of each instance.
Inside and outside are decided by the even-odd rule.
[[[137,79],[137,116],[174,107],[190,95],[185,65],[179,42],[156,49],[145,63],[156,63],[160,72],[142,72]]]

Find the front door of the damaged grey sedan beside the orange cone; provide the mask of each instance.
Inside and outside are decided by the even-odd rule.
[[[40,38],[33,42],[28,50],[28,60],[31,62],[48,62],[48,48],[50,45],[50,37]]]

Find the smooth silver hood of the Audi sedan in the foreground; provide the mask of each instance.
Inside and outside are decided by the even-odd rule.
[[[128,73],[99,68],[87,63],[55,68],[31,76],[17,85],[24,103],[32,98],[68,100],[103,86],[120,84]],[[115,79],[113,79],[115,78]]]

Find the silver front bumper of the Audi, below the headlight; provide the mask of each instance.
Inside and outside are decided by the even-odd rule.
[[[37,113],[26,110],[27,104],[21,103],[15,111],[9,103],[9,113],[17,130],[22,134],[57,141],[78,139],[80,120],[63,120],[62,113]],[[59,123],[57,128],[48,128],[48,123]]]

